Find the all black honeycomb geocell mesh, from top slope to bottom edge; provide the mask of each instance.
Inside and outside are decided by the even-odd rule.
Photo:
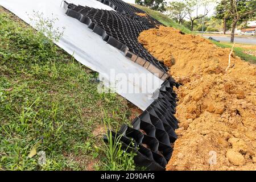
[[[136,13],[146,13],[121,0],[97,1],[115,11],[76,6],[65,1],[64,8],[67,15],[87,24],[93,32],[124,52],[130,60],[152,73],[158,73],[159,78],[165,80],[154,93],[154,102],[133,120],[133,128],[123,125],[118,133],[109,131],[109,134],[112,134],[113,139],[120,137],[123,150],[137,154],[134,157],[137,166],[149,170],[164,170],[172,155],[171,144],[177,139],[175,129],[178,128],[178,122],[174,117],[177,100],[173,88],[178,88],[179,84],[168,77],[163,63],[152,57],[137,40],[142,31],[158,28],[162,24],[148,15],[138,16]],[[108,142],[108,137],[105,136],[104,140]]]

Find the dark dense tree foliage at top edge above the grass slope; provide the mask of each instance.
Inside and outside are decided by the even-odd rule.
[[[135,3],[142,6],[147,6],[156,11],[163,12],[166,10],[166,2],[164,2],[164,0],[135,0]]]

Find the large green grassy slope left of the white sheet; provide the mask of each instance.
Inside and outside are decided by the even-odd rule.
[[[105,169],[103,121],[130,123],[131,111],[121,96],[98,93],[96,78],[0,7],[0,170]]]

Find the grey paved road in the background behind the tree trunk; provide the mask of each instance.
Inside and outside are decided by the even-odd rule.
[[[209,38],[210,36],[204,35],[205,38]],[[229,36],[211,36],[213,39],[220,40],[221,42],[230,42]],[[244,38],[235,38],[234,42],[242,43],[242,44],[255,44],[256,45],[256,37],[244,37]]]

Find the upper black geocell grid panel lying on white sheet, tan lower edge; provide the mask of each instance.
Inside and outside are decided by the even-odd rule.
[[[64,2],[64,7],[67,9],[68,16],[87,24],[88,28],[102,36],[104,41],[124,52],[126,57],[148,71],[158,73],[158,77],[162,80],[168,78],[167,67],[151,56],[137,40],[142,31],[149,29],[146,23],[142,23],[136,17],[128,18],[118,11],[76,6],[67,2]]]

